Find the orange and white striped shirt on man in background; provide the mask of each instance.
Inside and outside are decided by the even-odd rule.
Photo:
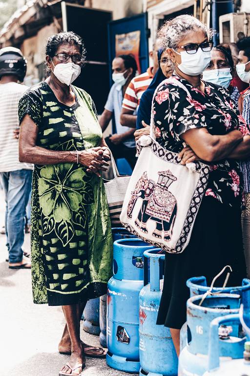
[[[142,94],[146,91],[153,79],[153,67],[146,70],[145,73],[139,74],[130,81],[123,98],[123,108],[135,111],[139,106]]]

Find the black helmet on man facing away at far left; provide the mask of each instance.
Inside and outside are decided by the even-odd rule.
[[[14,74],[22,82],[26,71],[27,60],[19,48],[4,47],[0,49],[0,77]]]

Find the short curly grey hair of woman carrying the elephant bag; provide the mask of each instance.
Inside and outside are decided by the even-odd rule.
[[[176,48],[185,34],[197,30],[202,30],[208,39],[216,33],[197,18],[185,14],[166,21],[158,32],[158,38],[161,40],[162,48]]]

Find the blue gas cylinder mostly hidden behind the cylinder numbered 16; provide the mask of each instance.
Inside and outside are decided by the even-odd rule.
[[[187,280],[187,287],[190,290],[190,297],[205,294],[210,286],[207,286],[206,277],[192,277]],[[241,286],[213,287],[212,293],[239,294],[242,297],[242,303],[247,309],[250,305],[250,280],[244,278]],[[187,323],[181,329],[180,333],[180,350],[182,351],[187,343]]]

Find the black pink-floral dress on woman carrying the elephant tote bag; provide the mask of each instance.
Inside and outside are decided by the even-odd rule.
[[[234,106],[229,92],[222,87],[205,82],[203,93],[186,80],[173,76],[158,88],[153,102],[157,141],[178,153],[185,146],[182,134],[192,128],[207,128],[212,135],[225,135],[233,129],[249,134],[245,120]],[[204,275],[210,284],[224,266],[230,265],[233,272],[229,284],[241,284],[246,275],[240,222],[242,186],[236,161],[210,164],[207,190],[190,242],[181,255],[166,254],[158,324],[180,329],[186,321],[188,278]],[[224,279],[222,276],[217,285],[221,286]]]

